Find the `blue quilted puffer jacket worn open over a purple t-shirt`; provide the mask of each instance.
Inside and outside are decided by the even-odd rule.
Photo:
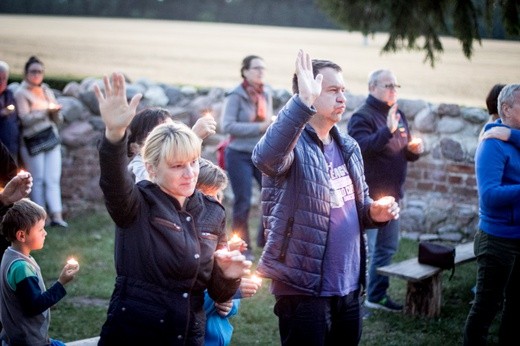
[[[330,215],[329,175],[323,145],[307,122],[314,108],[293,96],[253,150],[262,171],[262,212],[267,235],[257,271],[309,295],[319,296],[323,281]],[[356,141],[333,127],[352,178],[360,228],[374,227],[372,199],[365,183],[363,159]],[[360,285],[365,286],[366,248],[361,239]]]

